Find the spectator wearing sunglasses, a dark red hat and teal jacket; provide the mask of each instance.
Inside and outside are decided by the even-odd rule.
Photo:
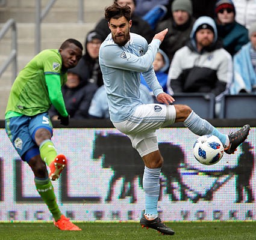
[[[236,22],[236,8],[231,0],[219,0],[215,5],[216,26],[223,47],[234,56],[248,43],[248,29]]]

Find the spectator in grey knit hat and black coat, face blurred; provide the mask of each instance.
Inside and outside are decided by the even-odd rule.
[[[160,48],[167,54],[170,61],[176,50],[183,47],[189,40],[195,19],[192,17],[192,2],[190,0],[175,0],[172,2],[172,15],[169,19],[158,23],[156,32],[168,28],[169,31]]]

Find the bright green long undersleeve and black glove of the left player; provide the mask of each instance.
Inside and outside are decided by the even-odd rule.
[[[60,75],[46,74],[45,80],[49,92],[49,98],[52,105],[55,107],[58,113],[60,113],[61,116],[67,116],[68,113],[61,92]]]

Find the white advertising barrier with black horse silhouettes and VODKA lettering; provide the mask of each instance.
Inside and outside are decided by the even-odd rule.
[[[182,124],[157,130],[164,157],[158,211],[165,221],[256,220],[255,119],[210,121],[222,133],[251,124],[236,154],[204,166],[193,157],[197,139]],[[130,140],[109,121],[54,122],[53,141],[68,158],[52,182],[63,214],[75,221],[139,221],[143,214],[143,163]],[[0,221],[52,220],[0,121]]]

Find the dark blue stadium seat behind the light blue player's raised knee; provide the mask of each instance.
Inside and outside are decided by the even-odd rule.
[[[173,94],[172,97],[175,99],[173,104],[186,104],[201,118],[214,118],[215,97],[213,94],[186,93]]]

